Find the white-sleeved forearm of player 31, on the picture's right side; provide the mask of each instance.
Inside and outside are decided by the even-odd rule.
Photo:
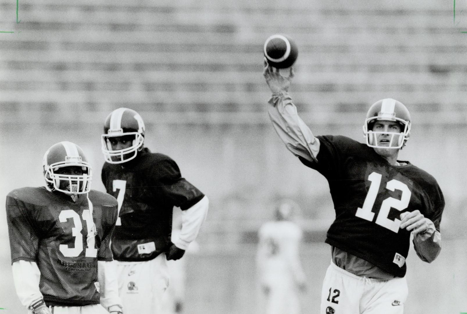
[[[114,261],[97,262],[100,304],[110,313],[123,314],[118,295],[117,268]]]

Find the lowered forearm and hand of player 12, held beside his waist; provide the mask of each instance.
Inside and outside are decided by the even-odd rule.
[[[412,232],[414,249],[422,261],[431,263],[438,257],[441,251],[441,234],[434,223],[420,211],[402,213],[400,228]]]

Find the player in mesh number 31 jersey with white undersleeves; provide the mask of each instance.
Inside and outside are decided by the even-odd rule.
[[[45,187],[7,195],[13,278],[21,303],[29,314],[122,313],[109,248],[117,201],[90,189],[91,166],[74,143],[50,147],[43,173]]]

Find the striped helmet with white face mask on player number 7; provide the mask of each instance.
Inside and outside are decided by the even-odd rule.
[[[131,147],[112,150],[109,138],[119,136],[134,136]],[[143,119],[132,109],[118,108],[113,110],[104,123],[104,134],[101,136],[101,142],[102,153],[107,163],[121,164],[132,160],[136,157],[138,151],[142,150],[144,142]]]

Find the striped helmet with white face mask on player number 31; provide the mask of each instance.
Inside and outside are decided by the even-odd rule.
[[[91,165],[88,164],[83,150],[71,142],[60,142],[52,145],[42,159],[44,179],[49,191],[60,191],[66,194],[88,193],[92,180]],[[82,175],[59,174],[56,171],[63,167],[78,166],[83,170]],[[70,190],[60,189],[60,181],[69,183]],[[76,190],[71,191],[73,185]]]

